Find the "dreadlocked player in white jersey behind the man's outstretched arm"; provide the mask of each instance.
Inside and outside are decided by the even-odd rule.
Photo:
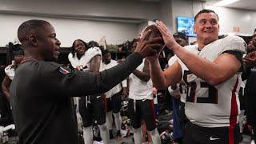
[[[90,43],[94,42],[89,42],[87,45],[80,39],[75,40],[68,58],[74,69],[98,73],[102,66],[102,52],[98,46],[90,46]],[[110,134],[106,128],[106,105],[104,101],[105,98],[102,94],[79,98],[78,107],[82,117],[85,144],[93,142],[93,114],[98,122],[103,142],[106,144],[109,142]]]

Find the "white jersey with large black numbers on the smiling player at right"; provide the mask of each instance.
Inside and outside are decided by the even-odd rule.
[[[246,43],[240,37],[227,36],[211,42],[201,51],[198,50],[198,46],[186,46],[186,48],[213,62],[227,50],[244,54]],[[241,72],[218,86],[210,86],[202,78],[192,74],[180,59],[178,62],[182,66],[182,81],[187,87],[185,113],[190,122],[203,127],[236,125],[240,110],[238,90],[242,82]]]

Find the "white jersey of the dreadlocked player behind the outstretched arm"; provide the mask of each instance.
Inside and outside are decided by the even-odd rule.
[[[102,56],[102,51],[98,47],[92,47],[86,50],[86,53],[82,55],[80,59],[78,59],[76,53],[74,54],[74,58],[73,54],[71,53],[68,55],[68,58],[71,63],[71,66],[73,66],[74,69],[86,71],[90,70],[90,60],[94,58],[94,56],[96,55]]]

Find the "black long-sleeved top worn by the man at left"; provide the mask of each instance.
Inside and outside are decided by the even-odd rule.
[[[66,70],[54,62],[30,61],[15,71],[10,102],[20,143],[78,143],[70,97],[100,94],[127,78],[142,63],[138,53],[99,74]]]

